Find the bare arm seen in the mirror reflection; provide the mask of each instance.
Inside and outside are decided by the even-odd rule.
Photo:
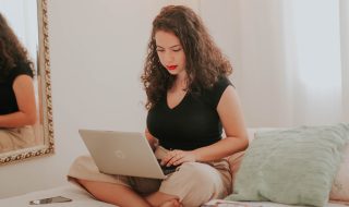
[[[19,75],[13,82],[13,90],[19,111],[0,115],[0,127],[20,127],[36,122],[36,105],[33,80],[28,75]]]

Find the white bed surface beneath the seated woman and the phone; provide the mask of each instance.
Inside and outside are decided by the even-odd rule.
[[[69,203],[57,203],[49,205],[29,205],[31,200],[53,197],[53,196],[64,196],[71,198],[72,202]],[[220,203],[217,205],[217,203]],[[275,204],[275,203],[229,203],[225,200],[212,200],[207,203],[207,207],[287,207],[288,205]],[[28,193],[21,196],[14,196],[10,198],[0,199],[0,206],[11,206],[11,207],[115,207],[113,205],[98,202],[94,199],[86,191],[80,188],[79,186],[68,183],[64,186],[55,187],[46,191],[38,191]],[[326,207],[348,207],[349,205],[340,204],[328,204]],[[288,206],[289,207],[289,206]],[[294,207],[294,206],[292,206]]]

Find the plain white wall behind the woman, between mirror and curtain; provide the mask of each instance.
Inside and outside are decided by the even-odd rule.
[[[229,0],[48,1],[56,154],[1,167],[0,197],[64,184],[73,159],[86,153],[80,127],[144,130],[140,75],[151,23],[161,5],[173,2],[202,11],[218,45],[233,53],[232,29],[220,26]]]

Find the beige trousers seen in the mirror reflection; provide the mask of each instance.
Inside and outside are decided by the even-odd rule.
[[[34,129],[31,125],[0,129],[0,153],[33,147],[35,145]]]

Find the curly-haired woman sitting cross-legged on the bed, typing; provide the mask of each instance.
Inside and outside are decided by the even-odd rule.
[[[97,175],[85,157],[72,166],[70,178],[96,198],[122,207],[200,206],[225,197],[231,187],[225,158],[248,147],[230,73],[229,61],[191,9],[164,8],[153,22],[142,75],[145,133],[161,165],[177,171],[163,181]]]

